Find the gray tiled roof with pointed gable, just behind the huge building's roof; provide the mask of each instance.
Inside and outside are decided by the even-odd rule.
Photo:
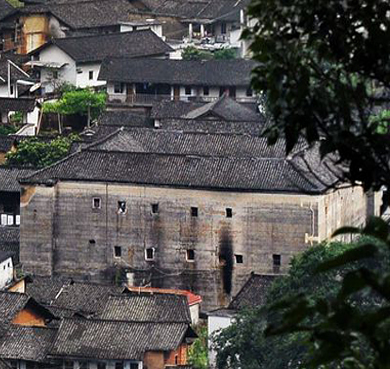
[[[226,95],[210,103],[163,100],[153,106],[151,116],[157,119],[182,118],[189,120],[213,116],[216,120],[262,123],[264,117],[256,113],[252,106],[254,104],[250,105],[240,104]]]

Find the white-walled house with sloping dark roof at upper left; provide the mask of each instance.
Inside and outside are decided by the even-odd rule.
[[[76,87],[104,86],[100,66],[109,56],[168,57],[172,49],[150,30],[52,39],[31,55],[26,65],[37,70],[42,94],[64,83]]]

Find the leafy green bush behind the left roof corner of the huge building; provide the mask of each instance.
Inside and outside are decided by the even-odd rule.
[[[31,138],[21,141],[16,151],[6,154],[6,165],[43,168],[63,159],[77,136],[57,137],[51,141]]]

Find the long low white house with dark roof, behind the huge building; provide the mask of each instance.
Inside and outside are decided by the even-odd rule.
[[[108,58],[99,80],[107,81],[108,101],[151,107],[163,99],[211,102],[226,94],[255,103],[250,60],[160,60]]]

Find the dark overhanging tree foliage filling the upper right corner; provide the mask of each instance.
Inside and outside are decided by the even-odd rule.
[[[321,137],[346,177],[366,189],[390,182],[390,2],[388,0],[253,0],[245,37],[259,62],[253,86],[264,92],[273,126],[291,150],[300,135]],[[373,117],[377,117],[373,119]],[[375,170],[373,170],[375,168]]]

